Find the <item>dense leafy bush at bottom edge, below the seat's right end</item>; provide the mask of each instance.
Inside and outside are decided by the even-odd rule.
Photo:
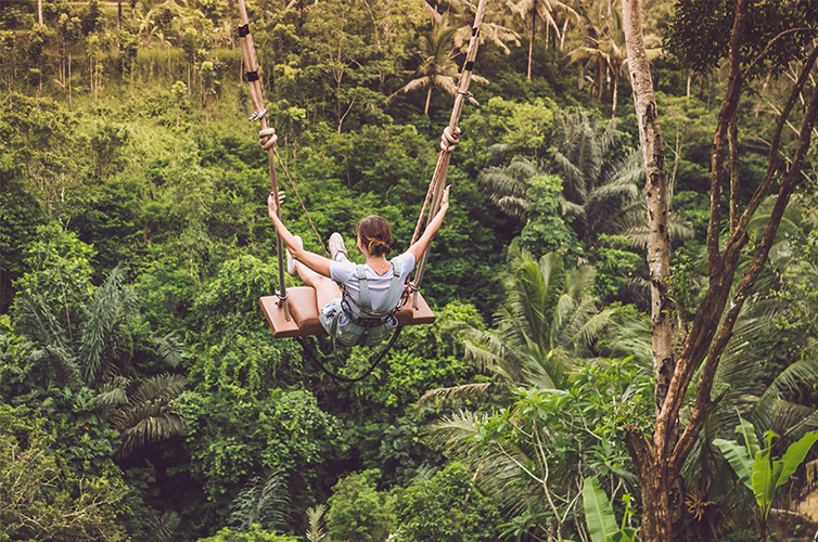
[[[489,542],[498,540],[497,505],[472,483],[462,463],[450,463],[430,480],[396,491],[397,540]]]

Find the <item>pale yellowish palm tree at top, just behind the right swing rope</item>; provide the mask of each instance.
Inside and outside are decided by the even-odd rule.
[[[418,89],[427,88],[426,105],[423,109],[424,115],[429,115],[429,104],[432,100],[432,88],[439,87],[451,95],[458,91],[457,80],[459,77],[459,67],[455,57],[459,54],[455,48],[455,34],[457,29],[449,27],[446,17],[432,27],[431,30],[421,34],[418,39],[418,55],[420,65],[413,72],[416,78],[395,91],[411,92]],[[411,72],[410,72],[411,73]],[[472,80],[476,82],[488,82],[484,77],[472,75]],[[474,98],[469,96],[469,102],[477,105]]]

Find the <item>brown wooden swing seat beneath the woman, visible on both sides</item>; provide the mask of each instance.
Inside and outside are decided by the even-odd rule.
[[[318,301],[316,291],[309,286],[286,288],[290,320],[284,319],[284,310],[278,296],[265,296],[258,299],[267,322],[276,338],[306,337],[310,335],[327,335],[321,322],[318,321]],[[399,325],[431,324],[435,321],[435,313],[429,308],[423,297],[418,293],[418,308],[412,307],[411,299],[395,313]]]

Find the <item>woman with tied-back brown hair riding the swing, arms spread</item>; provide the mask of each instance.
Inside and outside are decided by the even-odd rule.
[[[276,212],[276,206],[284,199],[283,191],[279,192],[278,202],[276,199],[270,194],[267,207],[276,231],[286,246],[287,272],[297,274],[316,291],[319,321],[330,337],[345,346],[371,346],[388,337],[397,326],[394,312],[407,278],[439,230],[449,208],[449,186],[444,191],[440,209],[423,235],[406,253],[392,260],[386,259],[392,251],[389,223],[376,215],[361,219],[356,227],[356,236],[358,248],[367,258],[366,266],[349,261],[344,240],[337,232],[330,236],[332,259],[305,250],[302,238],[291,234]],[[343,286],[343,293],[336,283]]]

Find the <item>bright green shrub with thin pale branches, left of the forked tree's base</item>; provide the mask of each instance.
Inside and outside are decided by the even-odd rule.
[[[550,521],[568,532],[576,529],[577,478],[597,475],[617,489],[635,483],[623,427],[649,427],[652,389],[630,360],[589,362],[567,376],[565,389],[515,388],[509,406],[445,417],[432,437],[480,468],[485,494],[502,495],[498,505],[511,517],[504,535],[541,538]],[[561,504],[549,504],[546,488]]]

